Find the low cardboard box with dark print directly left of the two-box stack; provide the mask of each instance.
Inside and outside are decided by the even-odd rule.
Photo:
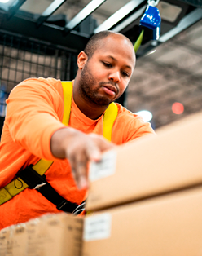
[[[80,256],[83,218],[50,214],[28,223],[27,256]]]

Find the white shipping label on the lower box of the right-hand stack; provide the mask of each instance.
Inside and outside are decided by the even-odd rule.
[[[83,239],[94,241],[106,239],[111,234],[111,214],[99,214],[85,219]]]

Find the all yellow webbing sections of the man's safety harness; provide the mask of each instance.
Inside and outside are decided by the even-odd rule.
[[[72,105],[72,82],[62,82],[64,90],[64,117],[63,124],[68,126],[69,117],[71,113]],[[111,141],[112,137],[112,126],[117,117],[118,108],[115,103],[112,103],[106,109],[103,116],[103,136],[104,138]],[[53,161],[46,161],[41,159],[32,168],[36,170],[38,174],[43,175],[46,170],[52,165]],[[22,179],[17,178],[8,183],[4,188],[0,189],[0,205],[9,201],[12,197],[19,194],[25,188],[28,188],[28,184]]]

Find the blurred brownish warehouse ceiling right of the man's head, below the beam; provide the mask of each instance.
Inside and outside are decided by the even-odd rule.
[[[202,20],[155,50],[138,59],[127,106],[150,111],[158,128],[202,110]],[[183,113],[173,113],[176,102]]]

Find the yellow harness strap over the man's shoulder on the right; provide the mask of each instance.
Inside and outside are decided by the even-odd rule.
[[[112,126],[118,114],[117,105],[112,102],[106,109],[103,116],[103,136],[105,139],[111,141],[112,139]]]

